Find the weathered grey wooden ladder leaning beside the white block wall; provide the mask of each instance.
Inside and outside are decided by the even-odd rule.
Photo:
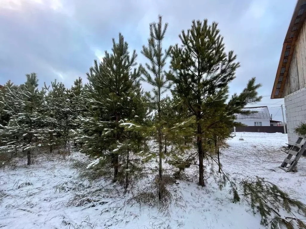
[[[292,172],[294,166],[297,165],[297,162],[299,161],[300,157],[303,155],[306,149],[305,143],[306,140],[304,138],[299,137],[296,143],[288,145],[288,147],[285,150],[288,152],[288,156],[285,158],[282,165],[279,166],[278,168],[284,170],[285,172]]]

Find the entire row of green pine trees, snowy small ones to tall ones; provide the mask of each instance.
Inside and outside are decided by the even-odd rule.
[[[33,153],[74,147],[125,188],[144,162],[156,160],[159,199],[167,156],[177,174],[197,165],[204,186],[204,161],[212,154],[221,172],[218,148],[230,136],[234,114],[247,114],[242,108],[261,100],[255,78],[229,95],[240,65],[225,51],[217,25],[192,21],[179,35],[181,44],[163,47],[168,24],[159,16],[141,50],[147,63],[136,62],[136,50],[119,33],[111,52],[90,67],[86,84],[79,78],[66,88],[54,80],[39,89],[35,73],[21,85],[8,81],[0,92],[1,153],[27,156],[30,165]]]

